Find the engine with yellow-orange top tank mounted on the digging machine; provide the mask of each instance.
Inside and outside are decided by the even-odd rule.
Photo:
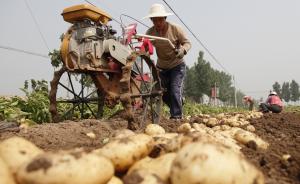
[[[131,49],[115,37],[116,31],[107,22],[110,16],[91,5],[66,8],[64,20],[72,26],[64,35],[61,54],[69,70],[118,70],[126,64]]]

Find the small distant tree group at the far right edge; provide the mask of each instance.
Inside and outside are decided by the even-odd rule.
[[[283,82],[282,85],[276,81],[272,87],[285,102],[297,102],[300,99],[299,84],[295,80]]]

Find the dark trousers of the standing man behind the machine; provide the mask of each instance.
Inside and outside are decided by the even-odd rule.
[[[185,75],[185,63],[169,70],[161,70],[161,85],[166,90],[163,101],[169,106],[171,118],[182,117],[182,88]]]

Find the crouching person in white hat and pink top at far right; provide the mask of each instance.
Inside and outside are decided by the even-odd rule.
[[[269,111],[273,113],[280,113],[283,109],[283,103],[277,93],[275,91],[272,91],[269,94],[266,102],[261,103],[259,107],[263,113],[267,113]]]

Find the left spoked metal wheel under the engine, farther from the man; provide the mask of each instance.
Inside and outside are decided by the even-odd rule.
[[[67,119],[100,118],[104,100],[88,74],[72,73],[62,67],[54,72],[49,93],[53,122]]]

